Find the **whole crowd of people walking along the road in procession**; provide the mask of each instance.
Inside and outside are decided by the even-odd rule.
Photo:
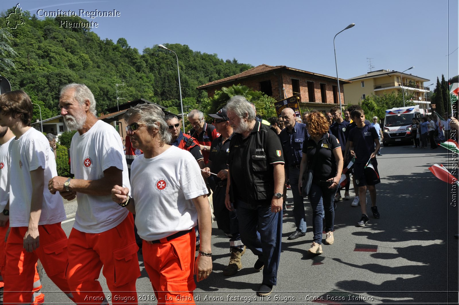
[[[30,127],[30,97],[22,90],[0,95],[5,303],[43,302],[37,289],[39,259],[76,304],[107,304],[97,280],[101,270],[118,295],[112,304],[135,304],[141,249],[158,300],[193,304],[194,275],[199,282],[212,273],[212,214],[229,237],[223,274],[235,275],[248,249],[257,256],[253,268],[263,270],[257,295],[269,295],[280,265],[286,185],[293,193],[296,226],[288,239],[306,235],[304,199],[311,204],[311,254],[324,252],[323,231],[324,243],[334,243],[334,203],[351,199],[351,180],[356,194],[351,205],[361,207],[357,226],[369,223],[367,190],[372,215],[380,218],[376,156],[383,135],[378,118],[370,123],[357,105],[348,107],[344,118],[339,107],[302,118],[285,108],[268,122],[257,116],[253,103],[234,96],[209,114],[212,124],[202,112],[190,111],[193,129],[187,135],[179,117],[140,104],[124,113],[123,145],[118,132],[97,119],[95,103],[82,84],[60,92],[64,122],[78,131],[70,147],[71,178],[56,173],[55,137]],[[414,125],[424,143],[423,124]],[[67,238],[61,227],[63,199],[74,198],[78,209]]]

